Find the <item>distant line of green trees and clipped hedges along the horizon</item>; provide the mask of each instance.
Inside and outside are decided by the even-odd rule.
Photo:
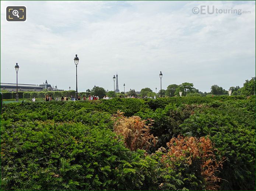
[[[250,80],[245,80],[245,83],[243,84],[243,87],[230,87],[229,90],[232,91],[231,95],[245,95],[250,96],[255,94],[255,77],[252,77]],[[3,99],[15,99],[16,92],[3,92]],[[201,96],[201,95],[228,95],[228,91],[224,88],[218,86],[218,85],[212,85],[210,92],[201,92],[199,89],[194,88],[193,83],[184,82],[182,84],[170,84],[166,89],[162,89],[162,96],[167,97],[174,97],[179,96],[179,92],[182,92],[182,96]],[[70,90],[70,91],[42,91],[42,92],[18,92],[19,98],[44,98],[46,94],[53,95],[56,97],[61,96],[68,96],[75,95],[76,91]],[[157,95],[160,95],[161,91],[158,91],[155,93],[150,88],[143,88],[140,91],[140,94],[138,95],[135,91],[135,89],[130,89],[128,92],[114,92],[114,91],[105,91],[104,88],[95,86],[94,88],[87,89],[86,92],[78,92],[79,96],[85,95],[88,97],[89,95],[96,95],[99,96],[99,98],[103,98],[105,95],[108,95],[109,97],[115,98],[115,97],[121,97],[121,96],[140,96],[142,97],[154,97]]]

